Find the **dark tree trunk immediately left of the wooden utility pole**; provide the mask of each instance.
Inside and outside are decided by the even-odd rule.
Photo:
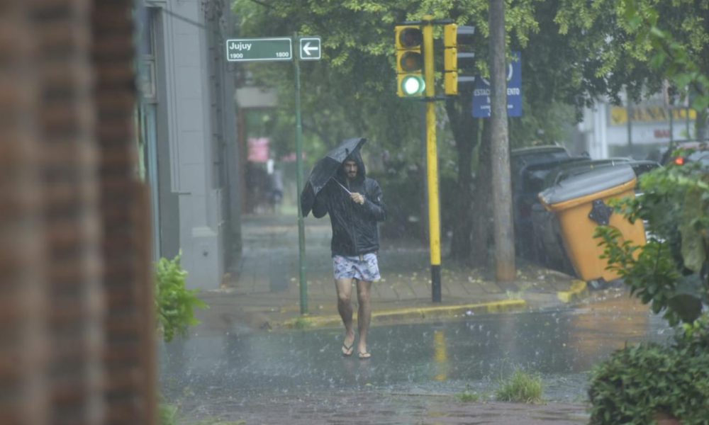
[[[491,154],[490,120],[483,120],[483,134],[478,149],[478,171],[475,176],[475,194],[473,205],[473,234],[470,262],[475,267],[486,268],[489,265],[489,247],[492,229],[491,208]]]

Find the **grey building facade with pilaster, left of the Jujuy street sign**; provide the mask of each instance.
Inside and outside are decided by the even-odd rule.
[[[182,253],[191,288],[218,288],[240,250],[228,1],[145,1],[140,128],[155,258]]]

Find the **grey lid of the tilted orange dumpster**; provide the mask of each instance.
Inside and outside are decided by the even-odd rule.
[[[560,181],[539,194],[540,200],[547,205],[581,198],[582,196],[605,191],[635,179],[632,166],[602,166],[588,173],[579,174]]]

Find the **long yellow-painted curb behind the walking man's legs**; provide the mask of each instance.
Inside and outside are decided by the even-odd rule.
[[[483,302],[480,304],[466,305],[442,305],[436,307],[413,307],[394,310],[381,310],[372,312],[372,325],[407,321],[413,319],[437,319],[440,317],[464,317],[472,314],[484,314],[495,312],[509,312],[523,310],[527,307],[525,300],[501,300],[493,302]],[[357,312],[354,312],[353,319],[356,319]],[[274,327],[286,329],[306,329],[316,327],[333,327],[342,323],[339,315],[329,316],[301,316],[289,319],[282,323],[274,324]]]

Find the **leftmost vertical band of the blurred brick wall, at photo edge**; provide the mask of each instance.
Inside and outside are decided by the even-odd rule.
[[[0,424],[47,424],[48,298],[29,7],[0,2]]]

